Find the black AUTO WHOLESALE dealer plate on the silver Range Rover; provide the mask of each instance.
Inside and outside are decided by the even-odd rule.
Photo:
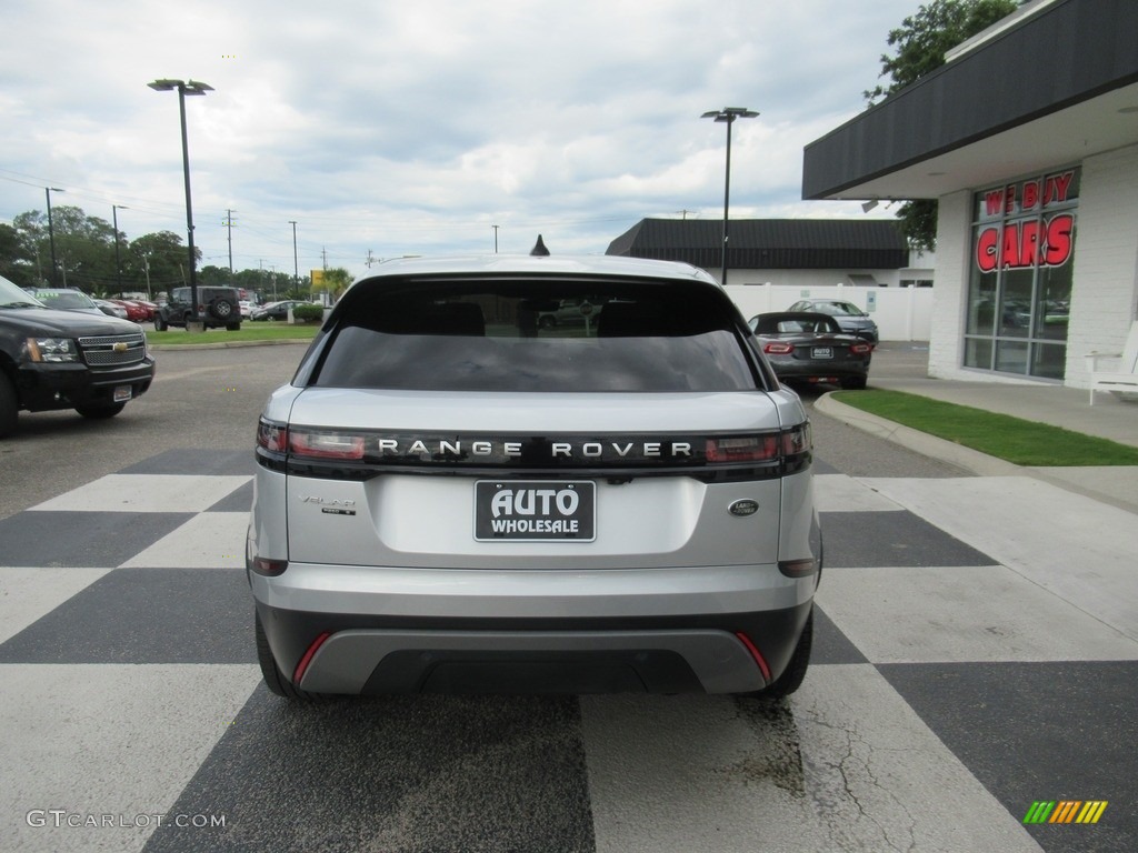
[[[475,539],[578,541],[596,539],[592,480],[478,480]]]

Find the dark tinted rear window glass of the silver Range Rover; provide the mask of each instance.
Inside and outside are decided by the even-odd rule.
[[[311,383],[471,391],[757,387],[726,296],[629,282],[432,281],[357,287]]]

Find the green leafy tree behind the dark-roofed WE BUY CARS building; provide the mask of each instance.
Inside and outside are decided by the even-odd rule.
[[[889,32],[894,56],[883,53],[879,83],[865,92],[871,106],[945,64],[945,53],[1015,11],[1016,0],[932,0]],[[897,210],[901,232],[915,249],[937,248],[937,199],[913,199]]]

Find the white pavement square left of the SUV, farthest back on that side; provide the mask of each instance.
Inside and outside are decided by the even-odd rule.
[[[251,479],[245,475],[108,474],[32,510],[196,513],[208,510]]]

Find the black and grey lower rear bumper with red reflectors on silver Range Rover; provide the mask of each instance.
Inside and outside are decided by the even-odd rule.
[[[786,666],[816,582],[790,581],[787,598],[801,590],[803,599],[759,612],[440,618],[296,611],[259,598],[257,612],[289,679],[307,656],[297,686],[312,693],[747,693]]]

